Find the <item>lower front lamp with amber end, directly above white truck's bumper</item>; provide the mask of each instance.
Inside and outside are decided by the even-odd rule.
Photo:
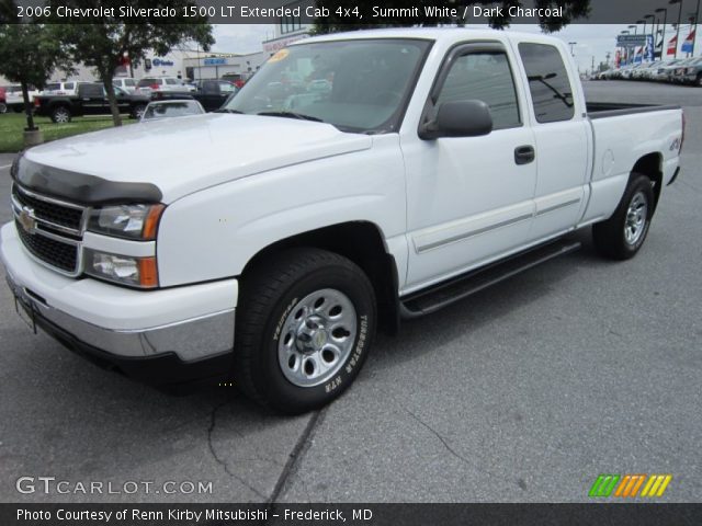
[[[134,258],[86,249],[86,274],[140,288],[158,287],[156,258]]]

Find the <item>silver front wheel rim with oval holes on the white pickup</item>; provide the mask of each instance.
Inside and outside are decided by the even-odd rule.
[[[298,387],[329,380],[347,362],[355,341],[358,316],[348,296],[325,288],[305,296],[281,329],[278,361]]]

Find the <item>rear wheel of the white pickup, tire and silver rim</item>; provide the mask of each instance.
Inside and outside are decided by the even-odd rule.
[[[644,206],[639,206],[642,203]],[[648,235],[654,206],[650,179],[633,173],[612,217],[592,227],[597,251],[612,260],[629,260],[636,255]],[[630,208],[638,211],[630,214]]]

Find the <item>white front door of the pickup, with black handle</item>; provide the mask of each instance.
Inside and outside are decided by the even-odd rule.
[[[497,259],[529,239],[535,141],[524,125],[524,94],[514,71],[502,44],[454,48],[437,77],[422,122],[433,118],[443,102],[480,100],[490,107],[492,132],[480,137],[400,139],[409,238],[403,293]]]

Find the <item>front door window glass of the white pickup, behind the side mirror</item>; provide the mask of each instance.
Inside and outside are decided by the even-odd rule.
[[[490,107],[494,129],[521,126],[514,79],[505,53],[468,53],[453,59],[437,107],[443,102],[475,100]]]

